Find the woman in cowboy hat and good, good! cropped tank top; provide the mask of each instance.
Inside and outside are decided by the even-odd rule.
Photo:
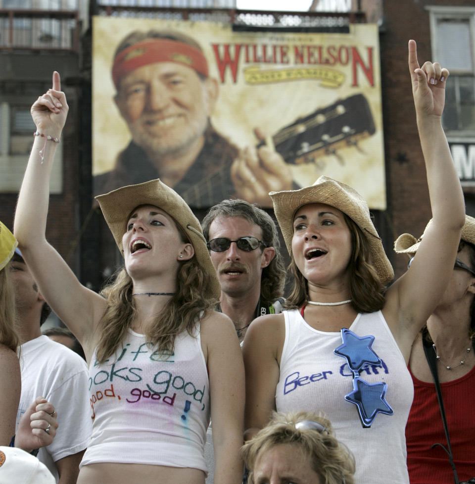
[[[220,288],[199,222],[160,180],[97,197],[125,264],[101,295],[80,284],[45,237],[67,111],[55,72],[31,109],[37,132],[15,232],[43,296],[90,366],[93,436],[77,482],[204,484],[211,417],[215,483],[236,484],[244,370],[233,323],[212,310]]]

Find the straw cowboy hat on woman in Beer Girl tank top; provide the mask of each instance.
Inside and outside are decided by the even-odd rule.
[[[274,212],[284,236],[288,253],[292,249],[293,216],[302,205],[325,203],[348,215],[363,231],[371,248],[372,264],[382,284],[394,278],[378,232],[373,225],[366,200],[352,187],[332,178],[321,176],[312,186],[300,190],[271,192]]]

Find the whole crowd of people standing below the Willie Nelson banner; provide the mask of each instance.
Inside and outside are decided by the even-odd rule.
[[[117,82],[134,73],[124,62]],[[267,212],[226,199],[200,224],[160,179],[96,197],[124,265],[100,293],[83,286],[45,235],[68,112],[53,73],[31,108],[14,235],[0,224],[0,483],[475,476],[475,220],[440,121],[449,73],[421,67],[414,41],[409,71],[432,219],[421,239],[395,242],[407,272],[393,281],[365,199],[322,176],[270,193],[288,294]],[[86,361],[42,334],[50,308]]]

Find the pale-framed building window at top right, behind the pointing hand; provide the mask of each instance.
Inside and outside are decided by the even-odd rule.
[[[450,72],[442,124],[447,134],[475,133],[475,8],[427,7],[432,58]]]

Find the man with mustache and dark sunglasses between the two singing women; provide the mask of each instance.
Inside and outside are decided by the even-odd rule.
[[[282,310],[285,270],[276,224],[255,205],[229,199],[211,207],[201,225],[221,284],[219,310],[242,341],[255,318]]]

